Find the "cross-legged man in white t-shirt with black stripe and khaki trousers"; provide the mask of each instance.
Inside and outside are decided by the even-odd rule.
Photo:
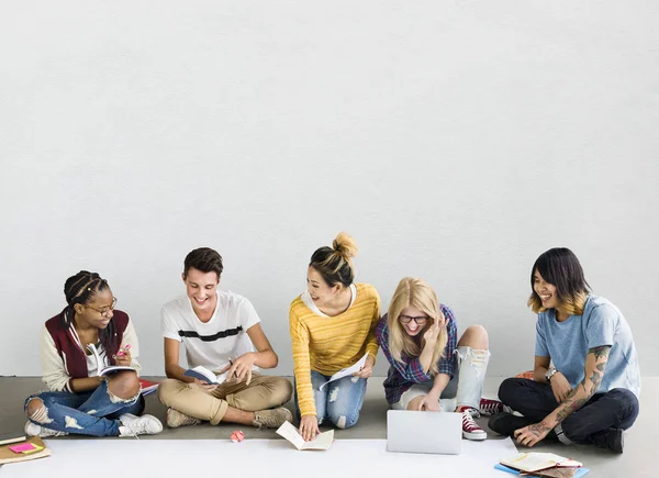
[[[165,371],[158,399],[168,407],[170,427],[208,421],[233,422],[258,427],[279,427],[292,421],[281,407],[292,394],[282,377],[264,376],[259,368],[277,366],[278,357],[260,326],[252,303],[242,296],[217,290],[222,257],[201,247],[186,257],[186,296],[163,307]],[[180,344],[186,346],[188,367],[203,366],[227,380],[212,385],[183,375]],[[256,349],[255,349],[256,348]]]

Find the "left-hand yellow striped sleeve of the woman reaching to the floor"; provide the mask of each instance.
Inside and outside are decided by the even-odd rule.
[[[298,392],[298,407],[300,415],[315,415],[315,401],[313,399],[313,386],[311,383],[311,363],[309,357],[309,330],[300,321],[291,304],[289,321],[291,342],[293,347],[293,374],[295,376],[295,389]]]

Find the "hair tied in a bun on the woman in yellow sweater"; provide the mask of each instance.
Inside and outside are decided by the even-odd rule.
[[[310,266],[319,271],[330,287],[340,284],[350,286],[355,280],[353,257],[357,255],[357,244],[346,232],[340,232],[332,242],[332,247],[323,246],[312,256]]]

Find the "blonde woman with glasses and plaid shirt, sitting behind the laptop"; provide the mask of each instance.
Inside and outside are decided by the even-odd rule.
[[[437,301],[427,282],[405,277],[376,335],[391,365],[384,392],[392,409],[454,410],[462,413],[465,438],[487,438],[473,419],[503,405],[481,398],[490,359],[485,329],[471,325],[458,338],[453,310]]]

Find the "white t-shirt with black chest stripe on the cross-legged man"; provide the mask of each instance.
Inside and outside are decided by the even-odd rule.
[[[247,330],[260,322],[247,299],[223,290],[217,291],[217,307],[206,323],[199,320],[188,296],[167,302],[160,315],[163,336],[183,343],[188,367],[201,365],[213,371],[254,352]]]

